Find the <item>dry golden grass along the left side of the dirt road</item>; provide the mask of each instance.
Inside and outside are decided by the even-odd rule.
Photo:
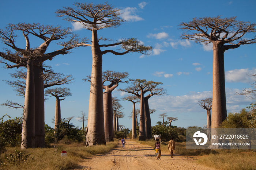
[[[93,147],[85,147],[83,143],[71,143],[71,144],[57,144],[57,152],[54,147],[51,148],[29,148],[22,150],[20,148],[10,147],[7,151],[0,155],[0,161],[7,163],[4,156],[13,153],[15,149],[23,151],[26,154],[31,153],[30,158],[34,157],[34,161],[30,158],[27,163],[21,163],[19,166],[14,165],[0,165],[0,169],[3,170],[66,170],[74,169],[79,166],[79,162],[83,159],[89,158],[94,154],[103,154],[116,147],[118,140],[114,142],[108,142],[106,145],[98,145]],[[67,157],[61,157],[61,151],[67,151]]]

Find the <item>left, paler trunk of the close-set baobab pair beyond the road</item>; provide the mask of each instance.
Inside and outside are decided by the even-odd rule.
[[[145,116],[144,116],[144,96],[143,90],[140,92],[140,128],[139,128],[139,140],[146,140],[145,133]]]

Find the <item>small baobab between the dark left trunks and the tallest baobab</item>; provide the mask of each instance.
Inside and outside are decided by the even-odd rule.
[[[58,123],[60,123],[61,112],[60,112],[60,101],[65,100],[67,96],[72,96],[69,88],[50,88],[45,90],[45,96],[56,98],[56,105],[55,105],[55,121],[54,121],[54,128],[57,128]]]

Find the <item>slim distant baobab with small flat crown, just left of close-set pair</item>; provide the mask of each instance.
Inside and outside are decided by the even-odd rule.
[[[131,101],[133,104],[133,108],[132,108],[132,139],[136,139],[137,138],[137,134],[136,134],[136,123],[137,123],[137,115],[136,115],[136,108],[135,108],[135,104],[140,102],[139,98],[136,96],[126,96],[123,97],[123,100],[127,100],[127,101]]]

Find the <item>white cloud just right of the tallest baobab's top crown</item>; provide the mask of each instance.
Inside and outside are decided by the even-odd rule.
[[[122,13],[120,16],[123,17],[125,20],[131,22],[144,20],[140,16],[136,15],[137,11],[137,8],[127,7],[120,11]]]

